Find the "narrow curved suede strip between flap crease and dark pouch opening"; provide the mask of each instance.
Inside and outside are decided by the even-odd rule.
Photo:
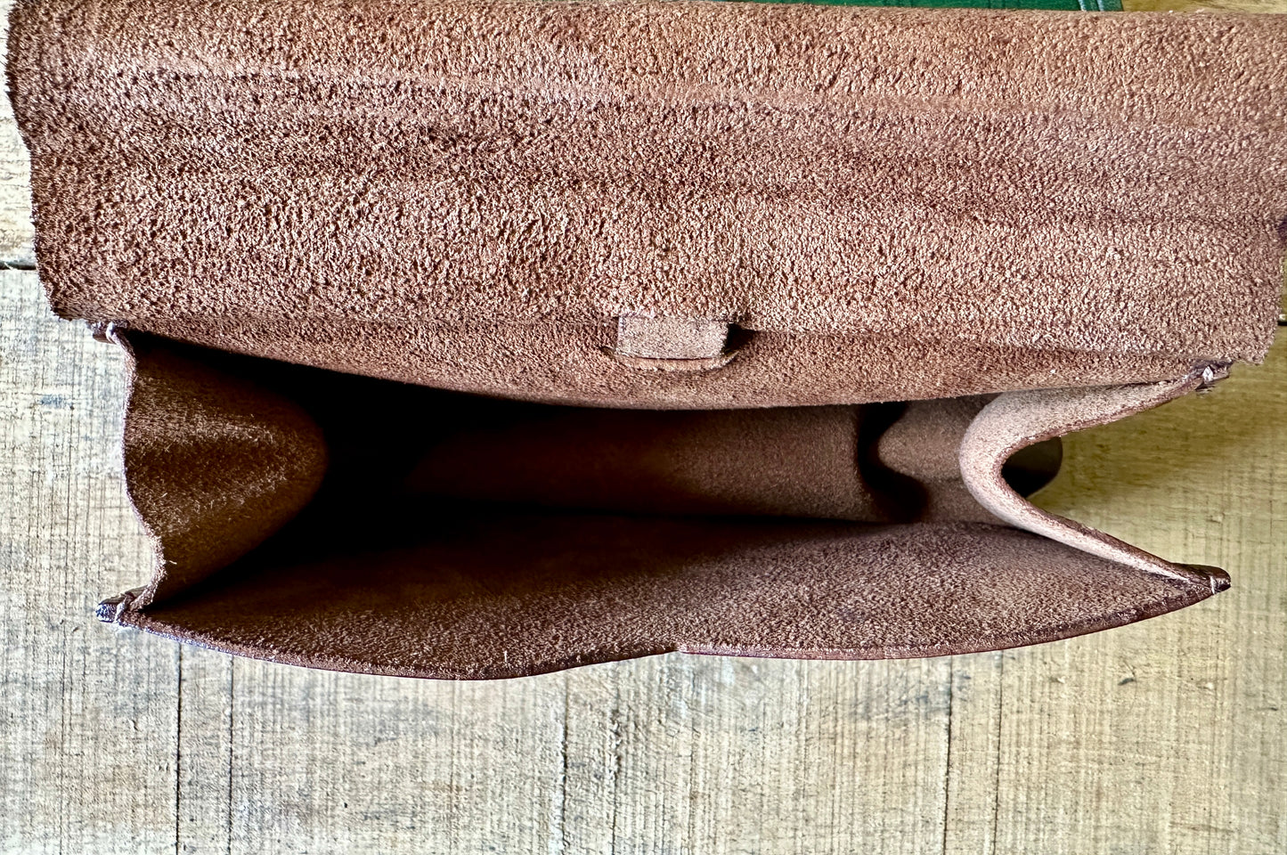
[[[218,290],[215,291],[218,294]],[[1272,301],[1272,296],[1266,296]],[[1266,305],[1268,305],[1266,301]],[[1245,326],[1248,318],[1241,318]],[[1233,322],[1230,322],[1233,323]],[[615,323],[470,323],[407,328],[382,323],[265,327],[230,318],[167,322],[179,340],[228,346],[254,339],[257,355],[507,398],[622,408],[748,408],[907,400],[1176,377],[1187,358],[1138,353],[1089,354],[982,348],[912,337],[811,336],[757,332],[714,371],[640,371],[605,353]],[[233,348],[237,349],[237,348]],[[888,370],[887,370],[888,368]],[[589,385],[587,385],[589,384]]]

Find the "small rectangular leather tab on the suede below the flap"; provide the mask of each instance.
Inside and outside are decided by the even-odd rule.
[[[726,321],[627,314],[616,319],[611,354],[633,368],[704,371],[732,359],[727,343]]]

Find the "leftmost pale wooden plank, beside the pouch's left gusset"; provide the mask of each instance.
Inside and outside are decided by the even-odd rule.
[[[174,845],[178,650],[93,619],[151,550],[125,496],[122,358],[0,272],[0,851]]]

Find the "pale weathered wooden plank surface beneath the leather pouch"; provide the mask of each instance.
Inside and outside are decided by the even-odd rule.
[[[26,157],[0,124],[0,261],[30,268]],[[1071,438],[1041,498],[1225,567],[1207,603],[997,654],[492,684],[93,621],[148,565],[122,395],[115,349],[54,319],[35,272],[0,273],[0,852],[1287,851],[1287,340]]]

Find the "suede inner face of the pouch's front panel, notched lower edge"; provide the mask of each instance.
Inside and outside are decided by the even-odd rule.
[[[229,573],[122,622],[275,662],[484,679],[668,650],[942,655],[1206,596],[1000,525],[447,518],[413,547]]]

